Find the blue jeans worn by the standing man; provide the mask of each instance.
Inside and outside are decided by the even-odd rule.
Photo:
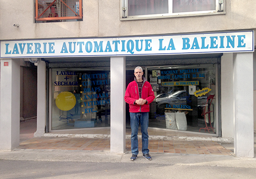
[[[138,155],[139,147],[138,147],[138,130],[139,124],[141,122],[141,131],[142,131],[142,153],[149,153],[149,113],[148,112],[130,112],[131,116],[131,149],[132,153]]]

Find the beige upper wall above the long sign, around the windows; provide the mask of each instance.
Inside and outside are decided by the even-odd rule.
[[[112,37],[256,28],[254,0],[226,0],[224,15],[136,21],[120,21],[120,1],[118,0],[84,0],[81,22],[36,24],[34,7],[34,1],[2,0],[0,39]],[[13,24],[19,24],[20,27],[13,27]]]

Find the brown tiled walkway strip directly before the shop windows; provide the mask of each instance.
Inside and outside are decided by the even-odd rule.
[[[33,137],[36,131],[36,120],[21,123],[21,142],[16,151],[24,150],[75,150],[75,151],[104,151],[110,152],[109,138],[75,138],[75,137]],[[139,150],[142,141],[139,140]],[[219,143],[203,140],[149,140],[150,152],[232,155],[232,143]],[[131,140],[126,139],[126,150],[131,152]]]

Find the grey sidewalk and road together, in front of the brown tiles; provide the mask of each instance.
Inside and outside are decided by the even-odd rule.
[[[223,155],[0,151],[0,178],[256,178],[256,158]]]

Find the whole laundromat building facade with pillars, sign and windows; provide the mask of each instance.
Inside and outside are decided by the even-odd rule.
[[[149,127],[228,138],[237,156],[253,157],[254,1],[35,0],[1,8],[1,150],[19,145],[21,113],[33,113],[27,106],[37,101],[35,136],[110,128],[111,152],[124,152],[124,92],[142,66],[156,96]],[[37,67],[36,78],[27,67]]]

